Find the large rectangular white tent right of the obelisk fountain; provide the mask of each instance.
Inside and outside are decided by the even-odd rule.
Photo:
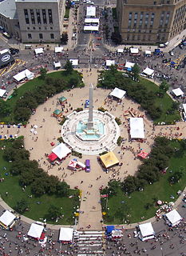
[[[143,118],[130,118],[130,137],[144,138],[144,120]]]

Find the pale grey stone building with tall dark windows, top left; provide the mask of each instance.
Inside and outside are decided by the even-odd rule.
[[[22,42],[60,42],[65,0],[15,0]]]

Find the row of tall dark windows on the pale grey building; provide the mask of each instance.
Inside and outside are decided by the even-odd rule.
[[[48,17],[47,17],[48,13]],[[48,9],[24,9],[26,24],[53,24],[52,10]]]

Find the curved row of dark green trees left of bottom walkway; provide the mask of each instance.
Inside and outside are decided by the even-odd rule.
[[[34,195],[69,195],[69,185],[66,182],[61,182],[56,176],[49,176],[38,166],[37,161],[29,160],[30,152],[25,150],[23,138],[14,140],[11,147],[6,147],[4,157],[6,161],[12,162],[10,173],[19,176],[20,186],[30,186]]]

